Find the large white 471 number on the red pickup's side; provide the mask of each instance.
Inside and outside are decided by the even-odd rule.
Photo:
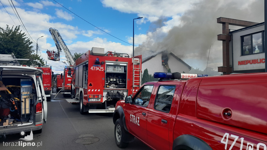
[[[236,143],[239,143],[237,141],[240,141],[240,143],[241,143],[241,144],[238,144],[240,146],[240,149],[243,149],[243,145],[245,146],[245,149],[247,149],[247,150],[253,150],[253,149],[259,150],[260,148],[263,148],[264,150],[267,149],[266,145],[263,143],[258,143],[257,145],[254,145],[254,144],[248,143],[248,142],[244,143],[244,137],[239,137],[239,136],[232,135],[232,134],[230,135],[230,137],[233,137],[234,141],[231,144],[229,150],[231,150]],[[225,133],[224,136],[222,137],[221,143],[225,144],[225,149],[227,149],[228,139],[230,139],[230,137],[229,137],[229,133]]]

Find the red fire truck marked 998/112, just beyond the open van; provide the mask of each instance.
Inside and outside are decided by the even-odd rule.
[[[39,75],[42,78],[42,82],[44,85],[45,95],[47,98],[51,98],[52,93],[52,67],[50,66],[43,66],[43,67],[36,67],[38,69],[43,70],[43,74]]]

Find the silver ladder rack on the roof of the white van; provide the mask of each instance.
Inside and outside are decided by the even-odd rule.
[[[11,53],[11,55],[0,54],[0,65],[20,66],[18,60],[29,60],[29,59],[17,59],[13,53]]]

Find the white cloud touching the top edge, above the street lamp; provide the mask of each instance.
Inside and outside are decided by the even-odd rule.
[[[150,22],[158,20],[160,17],[172,17],[173,15],[183,14],[190,9],[192,3],[201,0],[102,0],[105,7],[111,7],[124,13],[138,13],[138,16],[145,17]]]

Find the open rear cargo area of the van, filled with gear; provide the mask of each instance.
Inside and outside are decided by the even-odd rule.
[[[2,82],[8,90],[0,91],[0,127],[33,123],[36,92],[32,79],[3,76]]]

